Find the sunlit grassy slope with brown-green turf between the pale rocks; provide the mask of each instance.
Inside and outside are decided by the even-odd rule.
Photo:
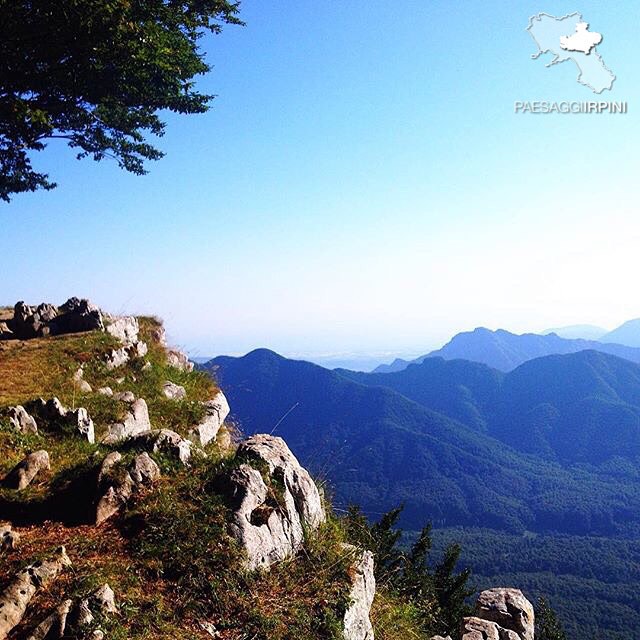
[[[132,391],[147,401],[154,428],[185,434],[199,417],[198,401],[210,398],[216,387],[206,374],[166,365],[163,347],[152,338],[156,324],[141,318],[141,337],[150,347],[145,360],[152,365],[146,370],[143,361],[134,361],[108,371],[104,354],[116,344],[104,333],[0,343],[0,411],[40,396],[57,396],[66,406],[89,410],[99,442],[125,405],[97,393],[80,395],[73,374],[84,365],[84,379],[94,390],[110,386]],[[186,400],[164,398],[165,380],[183,385]],[[120,604],[119,615],[103,621],[113,640],[210,637],[199,620],[216,624],[223,640],[340,636],[349,558],[341,547],[345,536],[339,521],[330,517],[308,537],[297,558],[269,573],[243,573],[240,551],[226,534],[227,512],[210,490],[221,469],[234,464],[232,453],[213,444],[207,460],[186,470],[158,459],[163,470],[159,485],[130,504],[126,513],[95,527],[87,524],[80,505],[92,497],[92,474],[109,449],[69,435],[41,431],[23,436],[0,418],[0,477],[40,448],[50,454],[51,471],[20,494],[0,489],[0,519],[10,517],[22,536],[17,551],[0,552],[0,589],[20,568],[60,544],[67,547],[74,566],[36,597],[12,640],[63,598],[105,581]],[[412,615],[382,589],[372,613],[376,637],[423,638],[411,628]]]

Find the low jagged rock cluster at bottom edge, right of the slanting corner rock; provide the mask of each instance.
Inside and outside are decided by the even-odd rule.
[[[117,611],[115,594],[105,583],[75,603],[73,600],[65,600],[34,629],[27,640],[103,637],[101,631],[88,631],[88,627],[94,623],[96,615],[108,616]],[[102,635],[96,636],[96,632]]]

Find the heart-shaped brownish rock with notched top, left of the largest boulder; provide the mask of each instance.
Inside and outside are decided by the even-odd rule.
[[[96,524],[104,522],[122,509],[134,493],[148,487],[160,477],[160,468],[147,453],[136,456],[126,471],[115,473],[122,460],[117,451],[103,461],[98,474]]]

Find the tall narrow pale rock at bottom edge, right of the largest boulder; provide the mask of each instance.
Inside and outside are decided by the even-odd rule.
[[[373,625],[369,619],[373,598],[376,595],[373,554],[371,551],[359,551],[352,545],[344,545],[344,549],[354,556],[351,568],[352,585],[349,592],[351,604],[344,614],[344,638],[345,640],[373,640]]]

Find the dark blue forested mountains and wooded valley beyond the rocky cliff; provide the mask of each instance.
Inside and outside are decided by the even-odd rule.
[[[363,374],[259,350],[207,368],[238,425],[283,435],[338,508],[404,502],[407,528],[462,543],[478,585],[550,597],[572,640],[637,637],[640,366],[587,351]]]

